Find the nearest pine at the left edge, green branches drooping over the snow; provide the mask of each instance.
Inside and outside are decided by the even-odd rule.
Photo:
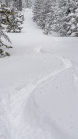
[[[7,12],[6,9],[5,9],[5,12]],[[10,54],[8,52],[6,52],[6,49],[12,48],[11,46],[5,45],[2,41],[2,37],[4,37],[8,42],[11,43],[9,37],[4,33],[4,31],[3,31],[4,28],[2,26],[4,23],[6,24],[6,22],[3,22],[3,18],[2,18],[3,15],[6,16],[6,14],[4,14],[5,12],[2,8],[2,0],[0,0],[0,57],[10,56]],[[8,18],[8,16],[7,16],[7,18]]]

